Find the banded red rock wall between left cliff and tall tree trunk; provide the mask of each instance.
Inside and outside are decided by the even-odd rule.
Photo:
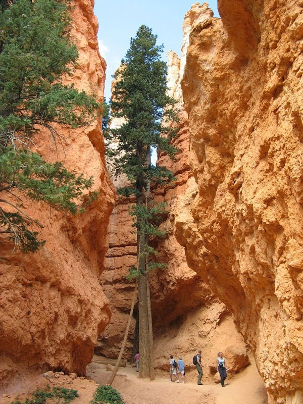
[[[98,336],[95,353],[107,358],[117,358],[119,355],[134,291],[133,282],[125,279],[129,267],[137,263],[137,237],[132,233],[132,220],[128,214],[128,208],[126,201],[116,201],[110,217],[106,270],[99,278],[104,293],[110,301],[112,317],[106,330]],[[131,323],[125,346],[123,355],[125,359],[131,356],[134,329],[135,319]]]

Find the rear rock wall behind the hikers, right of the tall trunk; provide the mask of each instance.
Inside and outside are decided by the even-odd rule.
[[[188,209],[178,211],[179,199],[184,195],[195,197],[197,184],[189,165],[188,115],[184,109],[181,81],[184,75],[189,32],[197,5],[184,19],[181,58],[168,53],[168,78],[170,95],[177,100],[180,122],[173,144],[179,149],[172,161],[165,154],[158,156],[158,164],[173,171],[176,181],[167,188],[155,190],[157,202],[168,205],[168,218],[161,229],[167,237],[158,240],[157,260],[167,269],[151,274],[152,306],[155,335],[155,366],[167,371],[168,358],[182,356],[186,367],[186,379],[196,382],[196,369],[192,357],[201,349],[204,361],[204,380],[213,382],[216,374],[218,351],[225,350],[232,370],[230,376],[249,363],[243,337],[238,334],[226,306],[215,296],[207,279],[189,268],[183,245],[176,239],[176,221],[182,214],[185,222],[191,221]],[[198,9],[199,12],[199,9]],[[189,215],[188,215],[189,213]]]

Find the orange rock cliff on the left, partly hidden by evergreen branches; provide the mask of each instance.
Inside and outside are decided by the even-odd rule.
[[[67,83],[93,91],[103,100],[106,64],[98,52],[98,24],[93,0],[74,0],[72,36],[79,49],[78,67]],[[18,373],[60,369],[85,374],[97,334],[110,321],[108,299],[98,282],[108,248],[107,226],[115,191],[106,163],[100,119],[89,127],[60,130],[64,150],[47,133],[36,137],[36,151],[47,161],[93,175],[98,197],[87,212],[70,216],[44,204],[25,201],[37,219],[45,245],[35,254],[14,251],[0,237],[0,383]]]

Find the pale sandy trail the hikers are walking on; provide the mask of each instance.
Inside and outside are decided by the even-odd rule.
[[[92,362],[88,375],[97,383],[106,384],[110,378],[104,365]],[[221,384],[192,382],[170,383],[167,378],[154,381],[139,379],[135,368],[119,368],[113,387],[123,396],[126,404],[266,404],[267,394],[255,364],[223,388]]]

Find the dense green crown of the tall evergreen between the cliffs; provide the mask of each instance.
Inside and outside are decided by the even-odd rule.
[[[126,122],[108,131],[110,141],[119,140],[118,148],[108,154],[115,157],[116,174],[125,173],[132,182],[132,192],[128,188],[127,194],[138,194],[138,178],[144,180],[145,186],[149,180],[172,179],[172,173],[164,167],[146,164],[150,146],[171,157],[176,153],[170,144],[175,130],[164,125],[177,119],[172,108],[175,100],[166,93],[167,66],[160,60],[163,45],[156,45],[156,41],[151,29],[142,25],[136,37],[131,38],[125,59],[114,74],[117,81],[112,94],[112,116],[123,117]]]

